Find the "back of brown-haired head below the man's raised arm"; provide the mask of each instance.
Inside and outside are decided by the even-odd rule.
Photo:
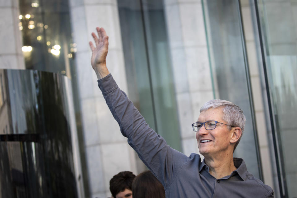
[[[165,190],[149,170],[138,174],[132,183],[133,198],[165,198]]]

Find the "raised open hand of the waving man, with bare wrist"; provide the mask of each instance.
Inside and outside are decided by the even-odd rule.
[[[101,79],[109,74],[106,67],[106,56],[108,53],[108,36],[103,28],[96,28],[98,37],[94,32],[92,36],[96,47],[90,41],[89,45],[92,50],[91,65],[97,74],[98,79]]]

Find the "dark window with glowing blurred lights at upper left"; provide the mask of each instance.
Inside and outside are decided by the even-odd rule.
[[[19,1],[19,9],[26,68],[71,76],[75,47],[68,1]]]

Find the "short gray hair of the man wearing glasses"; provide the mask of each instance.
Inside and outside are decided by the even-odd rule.
[[[243,114],[243,111],[240,109],[239,106],[235,105],[232,102],[226,101],[226,100],[219,100],[219,99],[215,99],[215,100],[210,100],[208,102],[206,102],[201,108],[200,108],[200,113],[202,111],[206,111],[210,108],[219,108],[219,107],[223,107],[223,116],[222,119],[228,124],[228,125],[232,125],[235,127],[240,127],[241,128],[241,136],[238,139],[238,141],[235,143],[235,148],[237,147],[237,145],[239,144],[239,141],[243,135],[243,131],[244,131],[244,126],[245,126],[245,115]],[[229,130],[231,130],[231,127],[229,126]]]

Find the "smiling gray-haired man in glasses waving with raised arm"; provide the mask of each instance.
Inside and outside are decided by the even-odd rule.
[[[237,105],[211,100],[201,107],[192,127],[203,160],[196,153],[187,157],[172,149],[118,88],[106,67],[108,36],[103,28],[96,29],[95,46],[89,44],[98,86],[123,136],[162,183],[166,197],[273,197],[272,188],[249,173],[243,159],[233,158],[245,124]]]

